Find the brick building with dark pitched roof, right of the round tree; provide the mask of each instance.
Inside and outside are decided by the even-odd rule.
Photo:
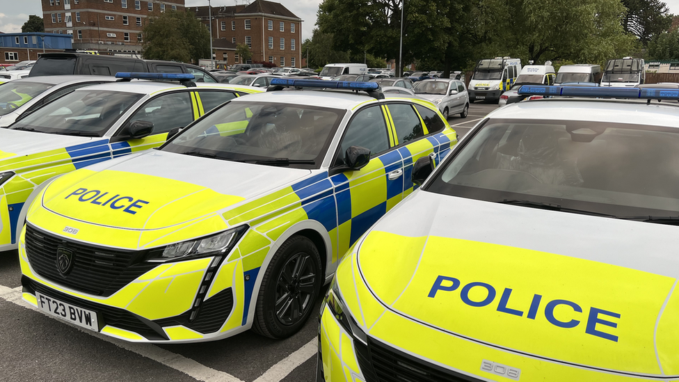
[[[206,26],[210,24],[209,7],[189,7]],[[278,66],[300,67],[302,63],[302,19],[280,3],[255,0],[250,5],[212,7],[213,45],[230,42],[246,44],[251,61],[269,61]],[[228,65],[243,63],[230,49],[215,49],[217,61]],[[224,56],[226,55],[226,56]]]

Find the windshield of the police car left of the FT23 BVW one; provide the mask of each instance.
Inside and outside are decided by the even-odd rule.
[[[11,129],[49,134],[103,136],[141,94],[76,90],[15,122]]]

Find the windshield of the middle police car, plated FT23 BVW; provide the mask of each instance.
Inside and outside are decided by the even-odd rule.
[[[342,116],[344,110],[315,106],[230,102],[186,129],[162,150],[319,168]]]

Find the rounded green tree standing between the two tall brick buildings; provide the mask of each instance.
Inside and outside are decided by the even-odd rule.
[[[205,24],[186,12],[169,11],[144,26],[143,57],[198,63],[210,57],[210,33]]]

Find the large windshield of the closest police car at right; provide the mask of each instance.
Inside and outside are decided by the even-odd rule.
[[[678,216],[678,133],[648,125],[491,119],[426,189],[618,217]]]

